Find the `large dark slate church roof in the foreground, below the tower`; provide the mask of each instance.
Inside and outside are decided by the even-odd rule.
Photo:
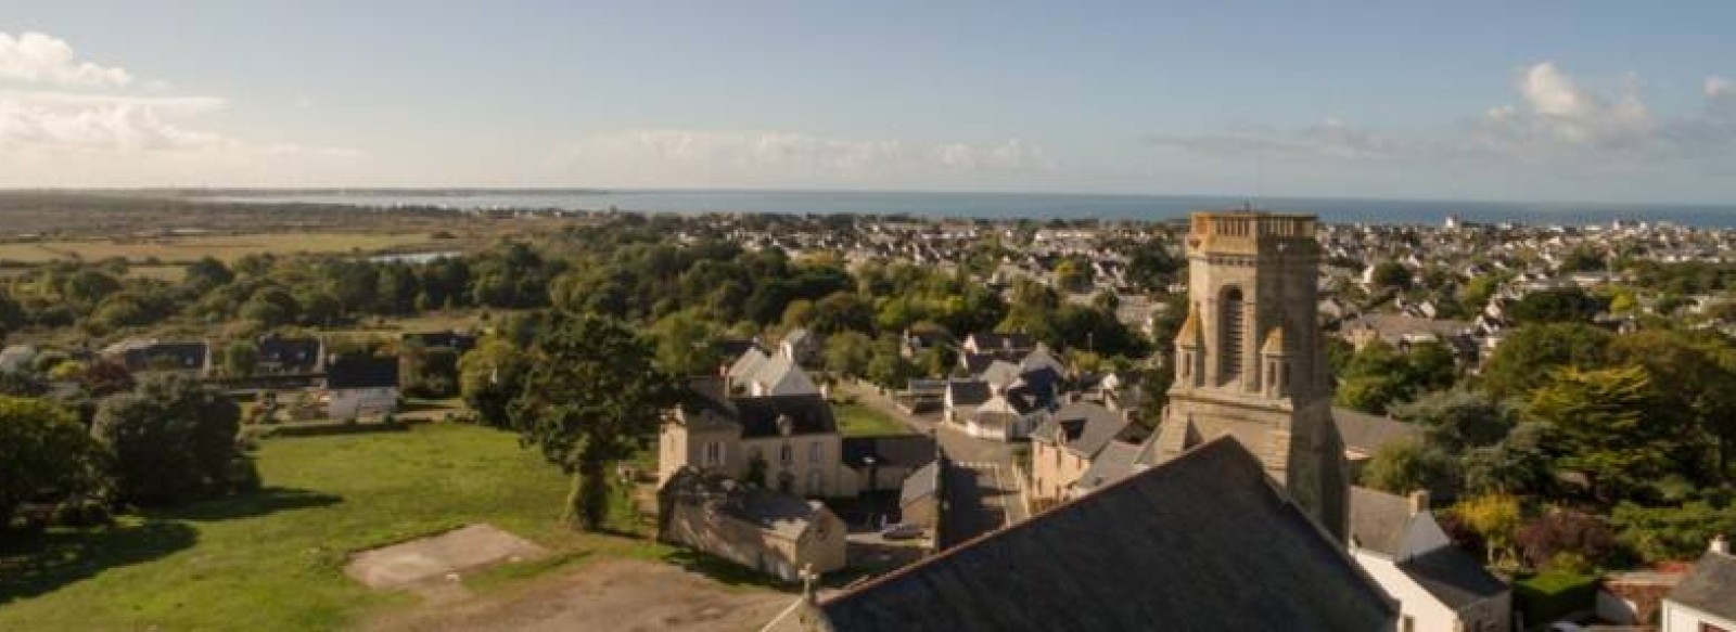
[[[1246,448],[1212,441],[814,606],[833,630],[1382,630],[1397,613]]]

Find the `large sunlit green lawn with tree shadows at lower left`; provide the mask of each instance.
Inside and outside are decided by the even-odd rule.
[[[259,469],[260,493],[0,542],[0,630],[332,630],[417,602],[351,582],[349,552],[467,523],[562,556],[641,547],[559,528],[568,479],[498,431],[269,439]]]

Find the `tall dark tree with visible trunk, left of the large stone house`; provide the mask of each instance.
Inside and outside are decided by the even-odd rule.
[[[554,323],[533,349],[524,391],[507,408],[512,427],[543,458],[573,474],[566,519],[604,528],[611,465],[632,457],[675,403],[651,344],[601,316]]]

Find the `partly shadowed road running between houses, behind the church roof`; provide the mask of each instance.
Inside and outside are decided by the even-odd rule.
[[[951,458],[955,467],[948,469],[941,481],[946,497],[941,512],[943,549],[1029,517],[1019,502],[1019,479],[1012,467],[1019,458],[1016,444],[972,438],[941,422],[939,415],[910,415],[891,398],[865,384],[847,382],[837,391],[903,422],[915,432],[932,434],[941,451]]]

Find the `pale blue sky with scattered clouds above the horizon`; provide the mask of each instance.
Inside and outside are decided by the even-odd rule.
[[[0,188],[1736,203],[1736,2],[0,0]]]

